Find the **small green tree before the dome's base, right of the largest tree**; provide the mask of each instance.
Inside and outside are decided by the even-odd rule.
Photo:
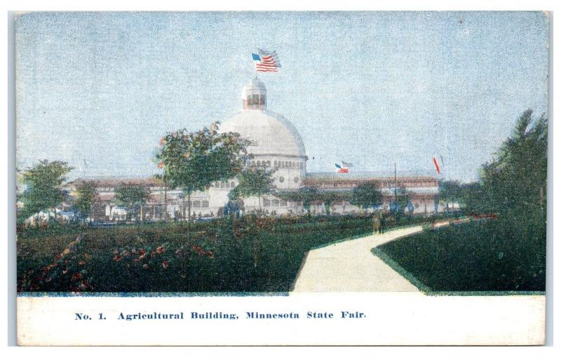
[[[259,214],[261,213],[261,196],[270,194],[275,189],[275,170],[266,168],[245,168],[238,174],[238,186],[231,191],[231,198],[257,196]]]

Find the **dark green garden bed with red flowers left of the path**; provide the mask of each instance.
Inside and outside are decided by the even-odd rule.
[[[18,242],[18,290],[283,292],[306,251],[370,226],[368,217],[245,215],[196,222],[190,234],[168,223],[29,238]]]

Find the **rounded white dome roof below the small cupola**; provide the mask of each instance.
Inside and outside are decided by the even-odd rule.
[[[244,110],[221,126],[222,133],[239,133],[252,141],[248,154],[298,156],[306,159],[304,142],[296,128],[284,116],[268,110]]]

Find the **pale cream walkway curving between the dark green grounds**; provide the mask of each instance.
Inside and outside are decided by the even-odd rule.
[[[442,222],[437,226],[447,224]],[[421,225],[310,250],[293,292],[420,292],[370,252],[377,245],[416,234]]]

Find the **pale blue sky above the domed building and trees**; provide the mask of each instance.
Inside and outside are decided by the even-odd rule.
[[[547,110],[538,12],[29,13],[16,22],[18,168],[71,177],[157,173],[159,138],[224,121],[254,75],[302,135],[309,171],[434,173],[471,181],[527,108]]]

